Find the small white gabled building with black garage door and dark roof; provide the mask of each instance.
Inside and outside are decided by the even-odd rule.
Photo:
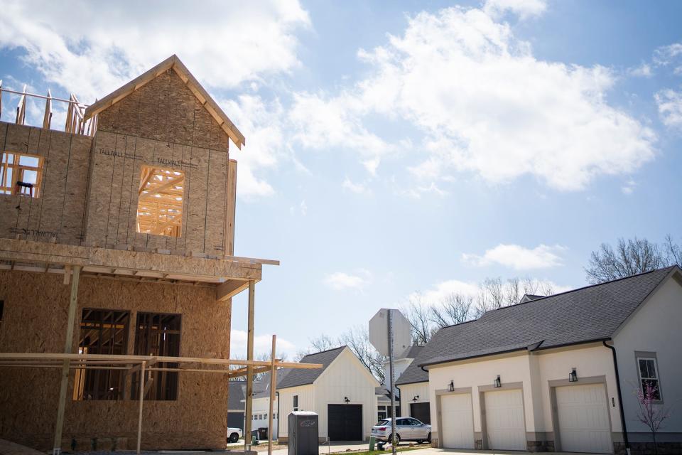
[[[301,363],[321,369],[290,370],[277,386],[278,414],[313,411],[319,414],[320,441],[369,439],[377,423],[379,381],[347,346],[305,355]],[[279,441],[288,441],[286,419],[279,425]]]

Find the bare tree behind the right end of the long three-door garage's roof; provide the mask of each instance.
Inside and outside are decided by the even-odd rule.
[[[588,282],[603,283],[612,279],[629,277],[634,274],[679,263],[682,259],[681,247],[670,236],[666,237],[663,247],[646,239],[618,239],[615,247],[602,243],[599,250],[590,255],[590,263],[585,269]]]

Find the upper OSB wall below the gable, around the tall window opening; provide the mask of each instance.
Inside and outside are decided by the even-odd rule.
[[[98,131],[93,145],[85,245],[224,255],[227,154],[219,150]],[[180,237],[137,232],[141,166],[185,173]]]

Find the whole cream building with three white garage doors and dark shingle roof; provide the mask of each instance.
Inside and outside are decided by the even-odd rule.
[[[428,370],[440,447],[651,453],[638,387],[672,408],[656,439],[682,452],[682,270],[654,272],[488,311],[441,328]],[[417,361],[415,362],[417,364]],[[414,370],[416,372],[416,370]],[[404,373],[401,385],[423,384]],[[402,381],[402,380],[401,380]]]

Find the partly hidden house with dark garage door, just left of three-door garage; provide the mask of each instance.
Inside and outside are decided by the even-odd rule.
[[[423,346],[413,346],[411,351],[414,348],[420,349],[411,352],[415,357],[396,380],[396,387],[400,390],[400,409],[405,417],[414,417],[425,424],[431,424],[428,372],[420,366],[426,360],[423,355],[424,349]]]

